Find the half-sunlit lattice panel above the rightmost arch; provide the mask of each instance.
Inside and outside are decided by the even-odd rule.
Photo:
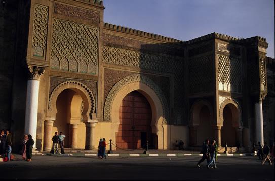
[[[239,58],[218,55],[219,90],[242,92],[243,66]]]

